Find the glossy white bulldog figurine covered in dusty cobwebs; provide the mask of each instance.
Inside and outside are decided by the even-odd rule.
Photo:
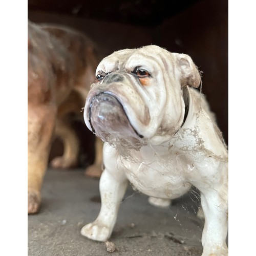
[[[96,70],[84,120],[104,143],[101,209],[81,234],[110,238],[131,182],[157,204],[193,185],[201,192],[203,256],[227,255],[228,152],[188,55],[158,46],[105,57]],[[161,201],[162,200],[162,201]]]

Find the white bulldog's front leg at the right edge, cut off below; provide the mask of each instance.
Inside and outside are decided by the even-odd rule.
[[[227,186],[201,192],[201,204],[205,223],[202,234],[202,256],[226,256],[228,229]]]

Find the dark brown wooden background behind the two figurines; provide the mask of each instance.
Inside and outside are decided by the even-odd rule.
[[[100,57],[123,48],[156,44],[191,56],[203,71],[202,92],[228,144],[228,1],[28,0],[28,18],[79,29],[97,44]],[[81,138],[81,165],[94,158],[94,137],[74,121]],[[61,154],[55,141],[50,158]]]

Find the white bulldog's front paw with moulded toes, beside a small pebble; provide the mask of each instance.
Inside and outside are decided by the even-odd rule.
[[[98,222],[89,223],[82,227],[81,234],[84,237],[96,241],[107,241],[111,236],[111,229],[108,226],[102,225]]]

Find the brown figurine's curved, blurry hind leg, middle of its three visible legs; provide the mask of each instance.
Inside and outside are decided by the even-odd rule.
[[[63,142],[64,152],[60,157],[55,157],[50,165],[53,168],[76,167],[79,153],[79,141],[76,133],[67,121],[57,120],[56,136]]]

